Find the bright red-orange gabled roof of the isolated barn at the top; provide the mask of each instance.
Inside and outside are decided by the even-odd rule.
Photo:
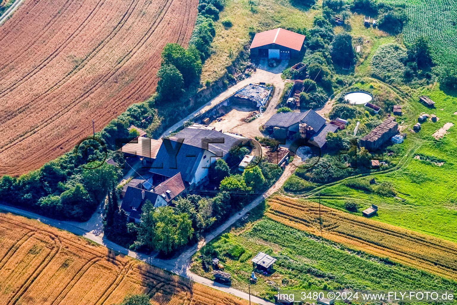
[[[305,36],[302,34],[277,28],[255,34],[250,48],[258,48],[267,44],[276,43],[280,46],[300,51],[304,41]]]

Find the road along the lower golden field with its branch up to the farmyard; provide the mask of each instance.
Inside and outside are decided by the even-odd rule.
[[[72,232],[76,235],[82,235],[91,241],[96,242],[97,244],[106,246],[109,249],[114,251],[118,251],[122,254],[128,255],[133,258],[137,258],[143,262],[147,262],[150,265],[154,265],[156,267],[171,271],[173,273],[179,274],[183,277],[190,278],[194,282],[212,287],[214,289],[218,289],[229,294],[233,294],[239,298],[249,300],[249,294],[246,294],[243,291],[225,286],[223,284],[219,284],[209,280],[207,278],[203,278],[195,273],[191,273],[189,271],[190,262],[192,255],[198,251],[202,246],[204,246],[207,242],[213,240],[216,236],[220,235],[224,230],[227,230],[231,225],[233,225],[237,220],[244,217],[247,212],[251,209],[254,209],[257,205],[259,205],[265,198],[269,197],[272,193],[276,192],[284,183],[284,181],[289,177],[293,171],[295,170],[295,166],[291,163],[286,166],[285,171],[282,173],[282,176],[278,179],[278,181],[270,187],[265,193],[261,194],[257,197],[252,203],[244,207],[238,214],[233,215],[230,217],[225,223],[220,225],[218,228],[214,229],[213,231],[207,233],[205,235],[204,242],[199,243],[198,245],[193,245],[188,247],[180,256],[171,259],[171,260],[163,260],[156,258],[154,255],[146,255],[142,253],[138,253],[135,251],[131,251],[127,248],[117,245],[116,243],[107,240],[103,237],[103,228],[101,227],[101,210],[99,209],[96,213],[94,213],[91,219],[85,223],[78,223],[73,221],[61,221],[56,219],[51,219],[48,217],[44,217],[32,212],[24,211],[21,209],[13,208],[10,206],[6,206],[0,204],[0,210],[4,210],[7,212],[11,212],[14,214],[22,215],[31,219],[37,219],[38,221],[43,222],[44,224],[51,225],[58,229],[66,230]],[[258,297],[252,296],[250,297],[252,302],[261,305],[274,305],[271,302],[266,300],[260,299]]]

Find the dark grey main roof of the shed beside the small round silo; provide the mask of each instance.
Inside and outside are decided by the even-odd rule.
[[[325,119],[313,109],[309,109],[306,112],[283,112],[273,114],[265,123],[265,126],[289,128],[293,124],[299,122],[307,123],[308,126],[311,126],[314,130],[319,130],[324,126]]]

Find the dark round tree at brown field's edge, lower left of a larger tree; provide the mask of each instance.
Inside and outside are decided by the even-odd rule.
[[[157,72],[159,83],[157,92],[162,100],[171,101],[184,92],[184,79],[181,72],[172,64],[165,64]]]

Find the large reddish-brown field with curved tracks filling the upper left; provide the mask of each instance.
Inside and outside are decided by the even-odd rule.
[[[37,169],[154,93],[198,0],[25,0],[0,27],[0,175]]]

